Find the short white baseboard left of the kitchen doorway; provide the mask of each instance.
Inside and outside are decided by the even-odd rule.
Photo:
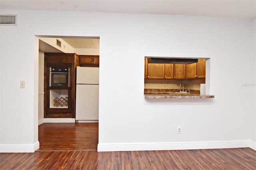
[[[39,141],[34,144],[0,144],[0,153],[35,152],[39,145]]]

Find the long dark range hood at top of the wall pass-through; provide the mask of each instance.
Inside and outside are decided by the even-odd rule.
[[[148,58],[148,63],[160,64],[192,64],[196,63],[198,59],[183,59],[183,58]]]

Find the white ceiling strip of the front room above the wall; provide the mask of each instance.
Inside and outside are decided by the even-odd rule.
[[[256,0],[0,0],[0,10],[56,10],[252,19]]]

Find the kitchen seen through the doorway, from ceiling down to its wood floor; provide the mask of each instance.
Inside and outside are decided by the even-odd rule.
[[[99,37],[39,38],[39,150],[97,150],[99,44]]]

